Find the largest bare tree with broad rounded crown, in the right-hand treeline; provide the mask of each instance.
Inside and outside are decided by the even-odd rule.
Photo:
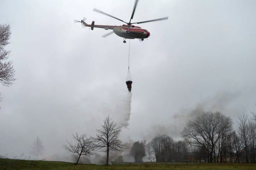
[[[208,162],[216,161],[216,144],[223,134],[232,130],[232,120],[220,112],[204,112],[189,120],[181,137],[191,146],[202,146],[208,152]]]

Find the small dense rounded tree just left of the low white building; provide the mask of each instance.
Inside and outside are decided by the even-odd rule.
[[[133,154],[135,162],[143,162],[142,158],[146,156],[144,143],[142,141],[132,143],[132,148],[130,152]]]

